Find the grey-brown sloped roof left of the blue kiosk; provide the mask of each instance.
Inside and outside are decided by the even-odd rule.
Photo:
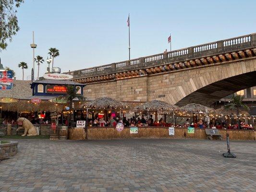
[[[13,80],[14,88],[11,90],[0,90],[0,97],[12,97],[16,99],[27,99],[32,96],[30,88],[31,81]]]

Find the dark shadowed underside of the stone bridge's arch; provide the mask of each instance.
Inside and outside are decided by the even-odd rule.
[[[189,103],[199,103],[210,106],[225,96],[253,86],[256,86],[256,71],[243,73],[208,84],[185,96],[176,105],[181,107]]]

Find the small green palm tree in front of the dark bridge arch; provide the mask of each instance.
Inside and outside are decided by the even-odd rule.
[[[224,107],[226,109],[233,110],[238,117],[242,108],[244,108],[245,110],[249,110],[248,106],[243,103],[243,99],[244,99],[244,96],[233,94],[231,98],[231,102]],[[238,128],[241,129],[240,119],[238,119]]]

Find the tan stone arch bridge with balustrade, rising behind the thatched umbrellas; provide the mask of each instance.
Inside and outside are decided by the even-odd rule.
[[[211,105],[256,85],[256,33],[66,73],[90,99]]]

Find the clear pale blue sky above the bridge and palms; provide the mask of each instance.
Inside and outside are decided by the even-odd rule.
[[[256,0],[25,0],[18,9],[20,31],[0,52],[3,66],[22,79],[22,61],[45,60],[49,48],[58,48],[54,66],[61,72],[128,60],[130,13],[131,59],[212,41],[256,33]],[[47,69],[40,65],[39,76]],[[37,68],[35,70],[37,74]]]

